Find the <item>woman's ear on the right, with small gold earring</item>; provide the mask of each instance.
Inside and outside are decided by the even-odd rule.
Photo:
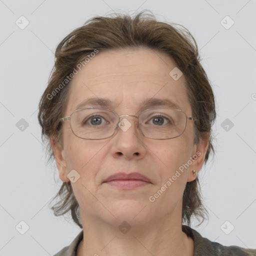
[[[192,170],[195,170],[197,173],[200,171],[205,154],[208,149],[209,133],[205,134],[203,138],[200,138],[198,145],[194,145],[193,153],[191,155],[192,163],[189,165],[187,173],[187,182],[193,181],[196,179],[196,174],[193,176]]]

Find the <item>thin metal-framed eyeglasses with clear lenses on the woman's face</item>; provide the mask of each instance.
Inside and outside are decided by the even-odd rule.
[[[118,115],[105,108],[84,108],[73,111],[69,117],[60,118],[59,121],[70,120],[70,127],[74,135],[83,139],[104,139],[112,136],[118,127],[126,131],[131,123],[120,117],[134,116],[138,118],[136,127],[141,133],[152,139],[169,139],[180,136],[188,120],[197,120],[187,117],[185,112],[174,108],[150,108],[138,115]]]

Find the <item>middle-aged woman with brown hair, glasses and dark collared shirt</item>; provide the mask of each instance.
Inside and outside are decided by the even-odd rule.
[[[215,115],[186,29],[139,13],[68,34],[38,119],[63,181],[52,209],[82,230],[55,255],[256,255],[189,227],[207,213],[197,173]]]

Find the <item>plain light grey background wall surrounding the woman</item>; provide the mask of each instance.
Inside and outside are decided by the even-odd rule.
[[[192,228],[224,245],[256,248],[255,0],[0,0],[1,256],[52,255],[80,231],[49,209],[61,181],[45,165],[37,122],[57,44],[94,15],[142,9],[189,29],[216,96],[216,157],[198,175],[209,220]],[[24,29],[15,23],[21,15],[29,21]],[[234,21],[229,29],[221,24],[226,15]],[[21,220],[29,226],[24,234],[15,229]]]

